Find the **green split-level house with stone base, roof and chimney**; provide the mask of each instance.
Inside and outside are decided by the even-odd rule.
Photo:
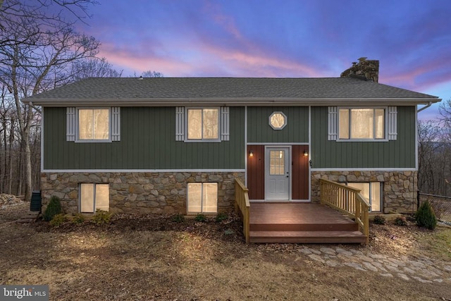
[[[372,212],[416,209],[418,105],[378,83],[378,61],[340,78],[87,78],[28,97],[42,106],[42,197],[68,213],[228,211],[319,202],[320,179]]]

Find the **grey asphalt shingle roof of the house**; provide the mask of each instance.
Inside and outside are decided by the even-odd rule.
[[[440,100],[359,78],[86,78],[25,101],[231,98]]]

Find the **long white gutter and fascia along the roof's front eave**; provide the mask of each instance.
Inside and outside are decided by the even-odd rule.
[[[143,98],[143,99],[34,99],[39,106],[336,106],[365,104],[379,106],[417,105],[440,102],[438,98],[292,98],[292,97],[221,97],[221,98]]]

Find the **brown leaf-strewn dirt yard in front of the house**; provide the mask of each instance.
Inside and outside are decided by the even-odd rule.
[[[372,225],[369,246],[245,245],[234,216],[16,223],[29,206],[0,209],[0,283],[48,284],[50,300],[451,300],[450,228]]]

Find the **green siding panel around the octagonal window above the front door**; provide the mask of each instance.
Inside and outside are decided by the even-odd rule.
[[[283,112],[287,116],[287,125],[282,130],[274,130],[269,125],[269,116],[276,111]],[[247,108],[247,142],[309,142],[309,107],[249,106]]]

